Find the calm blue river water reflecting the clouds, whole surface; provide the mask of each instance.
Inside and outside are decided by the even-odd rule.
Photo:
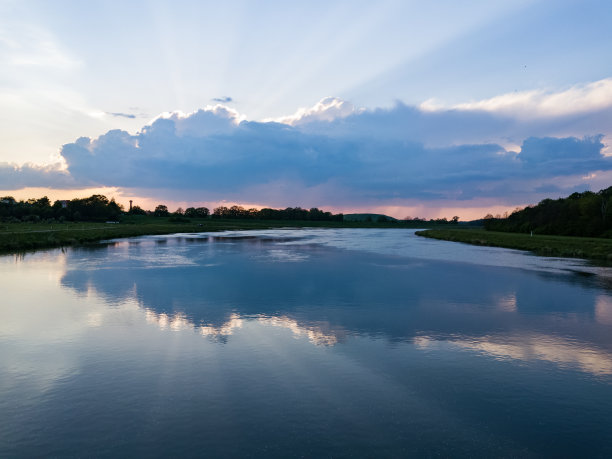
[[[410,230],[0,257],[0,457],[612,457],[611,278]]]

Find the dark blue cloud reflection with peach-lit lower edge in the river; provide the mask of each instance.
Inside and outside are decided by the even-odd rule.
[[[109,304],[136,301],[160,329],[222,343],[248,321],[291,330],[316,345],[334,346],[348,336],[382,336],[429,350],[444,342],[497,359],[612,374],[612,341],[601,328],[612,324],[612,300],[594,278],[571,272],[576,262],[564,270],[559,259],[487,248],[462,263],[469,248],[454,253],[455,246],[402,230],[155,240],[120,242],[97,256],[88,253],[86,263],[78,250],[69,252],[62,284],[93,289]],[[434,248],[432,260],[424,258],[421,242]],[[491,260],[498,252],[501,258]],[[516,269],[521,259],[525,269]],[[504,260],[511,268],[500,266]]]

